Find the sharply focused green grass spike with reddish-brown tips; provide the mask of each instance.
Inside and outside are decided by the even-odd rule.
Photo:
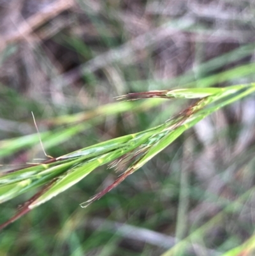
[[[105,190],[82,203],[86,207],[94,200],[120,184],[126,177],[156,156],[187,129],[216,110],[233,103],[255,91],[255,84],[244,84],[224,88],[191,88],[164,91],[131,93],[117,97],[118,100],[138,100],[141,98],[178,98],[197,99],[187,109],[168,119],[165,123],[145,130],[94,146],[85,147],[73,153],[52,158],[40,164],[31,164],[22,169],[0,173],[0,203],[17,197],[33,188],[40,187],[31,199],[27,200],[17,213],[0,225],[0,229],[25,215],[34,207],[64,192],[75,183],[84,179],[92,170],[106,163],[118,167],[128,162],[128,169]]]

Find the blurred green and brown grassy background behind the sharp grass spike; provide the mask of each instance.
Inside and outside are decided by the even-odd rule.
[[[115,96],[254,82],[254,13],[252,0],[0,0],[0,171],[45,158],[31,111],[57,157],[191,103]],[[0,255],[254,255],[254,112],[254,95],[219,110],[82,209],[119,175],[94,170],[4,229]],[[32,195],[1,204],[1,222]]]

